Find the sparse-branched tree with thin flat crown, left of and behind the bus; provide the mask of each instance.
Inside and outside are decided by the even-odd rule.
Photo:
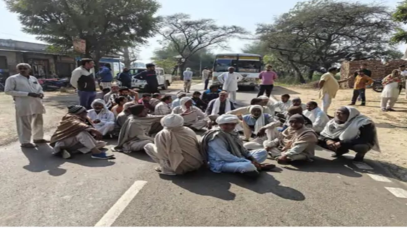
[[[247,34],[239,26],[217,26],[213,19],[191,20],[190,15],[177,13],[162,19],[162,44],[173,45],[184,61],[179,59],[179,68],[184,71],[186,60],[201,49],[211,47],[228,48],[227,41]],[[182,78],[182,75],[181,75]]]

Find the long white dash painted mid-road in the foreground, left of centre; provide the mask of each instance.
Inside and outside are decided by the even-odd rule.
[[[112,226],[117,217],[124,211],[129,205],[130,201],[138,194],[147,181],[135,181],[133,185],[123,196],[121,196],[117,202],[106,212],[105,215],[95,224],[95,226]]]

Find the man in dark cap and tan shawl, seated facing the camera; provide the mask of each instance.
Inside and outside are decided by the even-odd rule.
[[[290,126],[273,141],[264,143],[271,157],[277,157],[278,163],[295,160],[309,160],[315,155],[317,134],[305,127],[302,115],[294,114],[289,118]]]

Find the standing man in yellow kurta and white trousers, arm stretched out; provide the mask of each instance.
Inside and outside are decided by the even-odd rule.
[[[338,73],[336,67],[330,67],[327,73],[324,73],[319,80],[319,99],[322,100],[322,109],[325,113],[328,113],[328,108],[332,102],[332,98],[335,98],[336,92],[339,90],[339,83],[350,80],[348,77],[344,80],[337,81],[335,74]]]

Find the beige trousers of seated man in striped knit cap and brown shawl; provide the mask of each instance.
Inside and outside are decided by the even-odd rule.
[[[55,152],[63,149],[74,151],[78,150],[82,153],[88,153],[93,148],[101,149],[106,146],[106,142],[95,140],[88,131],[81,131],[76,136],[57,141],[54,146]]]

